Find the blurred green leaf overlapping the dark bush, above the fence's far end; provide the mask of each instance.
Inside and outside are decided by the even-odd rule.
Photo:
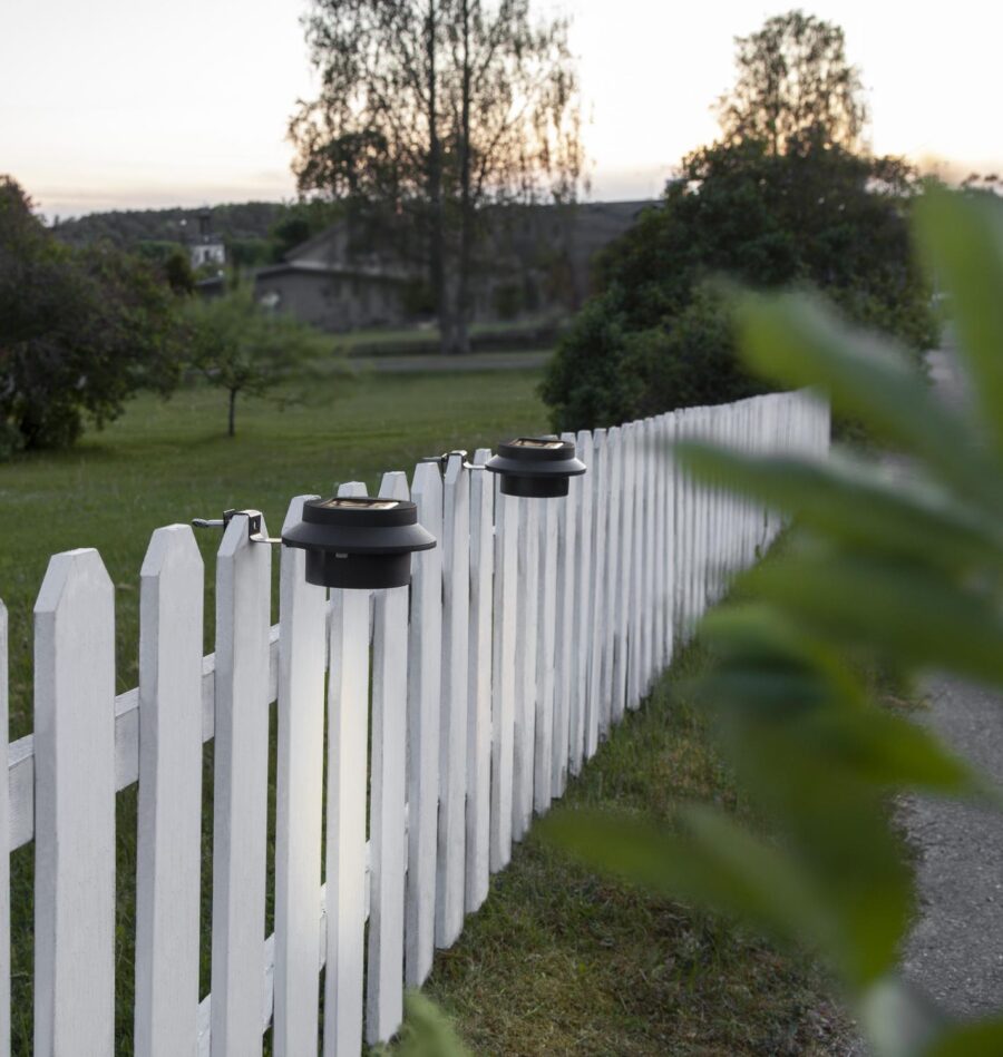
[[[740,346],[757,371],[785,384],[818,385],[834,408],[919,456],[931,472],[976,501],[1003,496],[964,421],[937,400],[906,358],[870,334],[854,332],[817,301],[749,294],[738,312]]]

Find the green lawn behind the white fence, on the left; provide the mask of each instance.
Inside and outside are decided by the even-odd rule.
[[[165,402],[140,397],[74,449],[0,463],[0,598],[10,610],[11,736],[31,730],[31,610],[49,556],[97,547],[116,585],[118,689],[138,679],[139,567],[150,532],[227,508],[263,510],[273,535],[291,497],[337,482],[373,489],[451,448],[494,446],[547,429],[539,371],[315,376],[285,391],[301,402],[242,400],[227,438],[222,392],[196,386]],[[305,393],[304,393],[305,390]],[[212,645],[213,554],[206,559],[206,650]],[[279,562],[274,562],[277,568]]]

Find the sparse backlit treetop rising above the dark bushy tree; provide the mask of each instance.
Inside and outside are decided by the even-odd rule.
[[[840,27],[789,11],[736,46],[738,79],[718,100],[726,141],[762,140],[773,155],[805,136],[859,148],[867,108]]]

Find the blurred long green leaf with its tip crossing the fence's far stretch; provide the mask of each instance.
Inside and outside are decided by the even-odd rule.
[[[762,458],[689,442],[684,466],[732,491],[795,515],[816,532],[855,548],[942,569],[1003,569],[999,522],[967,510],[943,489],[889,479],[886,471],[834,454],[821,463]]]

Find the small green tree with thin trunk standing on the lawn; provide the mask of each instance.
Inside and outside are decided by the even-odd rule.
[[[226,433],[236,433],[236,401],[274,389],[291,369],[329,351],[324,335],[292,315],[270,312],[242,284],[217,297],[196,298],[186,312],[191,362],[227,394]]]

